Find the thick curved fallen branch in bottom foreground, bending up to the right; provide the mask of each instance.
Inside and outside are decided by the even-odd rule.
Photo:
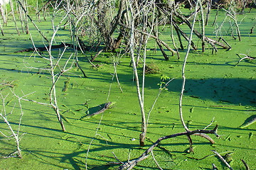
[[[146,157],[149,156],[149,153],[154,149],[154,147],[159,145],[159,143],[162,140],[167,140],[169,138],[178,137],[178,136],[182,136],[182,135],[191,136],[191,135],[195,135],[196,133],[214,134],[217,137],[219,137],[219,135],[217,134],[217,129],[218,129],[218,125],[216,125],[213,130],[193,130],[193,131],[181,132],[181,133],[176,133],[176,134],[173,134],[173,135],[167,135],[167,136],[164,136],[164,137],[160,137],[158,140],[156,140],[156,142],[154,142],[153,145],[151,145],[151,147],[149,147],[149,149],[146,149],[146,151],[140,157],[138,157],[137,159],[132,160],[131,162],[127,162],[127,163],[123,164],[122,166],[119,166],[119,170],[122,170],[122,169],[130,170],[130,169],[132,169],[139,162],[146,159]]]

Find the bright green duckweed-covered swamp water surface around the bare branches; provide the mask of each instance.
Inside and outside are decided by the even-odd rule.
[[[216,150],[222,156],[230,156],[230,165],[233,169],[245,169],[241,159],[256,169],[255,164],[255,130],[256,124],[247,128],[238,128],[247,118],[255,116],[255,61],[242,60],[235,67],[239,57],[238,53],[255,57],[256,33],[250,34],[250,29],[255,26],[256,11],[246,13],[240,18],[242,41],[234,40],[229,33],[229,23],[223,25],[222,34],[232,46],[232,50],[219,49],[216,55],[211,54],[210,46],[206,52],[191,51],[186,65],[186,90],[183,96],[183,116],[188,128],[191,130],[203,129],[214,118],[213,125],[218,124],[220,139],[210,135],[215,140],[215,145],[201,137],[192,136],[194,153],[187,152],[189,143],[185,136],[171,138],[161,142],[160,147],[154,149],[154,157],[163,169],[212,169],[215,164],[219,169],[225,169],[225,164],[218,157],[210,156]],[[214,12],[211,20],[214,18]],[[223,13],[225,15],[225,13]],[[217,23],[222,23],[223,16],[218,17]],[[48,23],[37,23],[38,28],[48,38],[52,35],[50,18]],[[207,35],[215,38],[213,30],[216,27],[206,27]],[[183,29],[187,29],[183,26]],[[166,33],[162,36],[168,42],[170,28],[166,26]],[[186,31],[189,33],[189,30]],[[4,36],[0,38],[0,83],[1,93],[6,98],[6,111],[9,123],[14,130],[18,128],[21,113],[17,99],[11,95],[6,84],[11,84],[12,90],[18,96],[26,96],[38,102],[48,103],[50,91],[50,74],[47,71],[33,69],[32,67],[46,68],[46,61],[32,52],[19,52],[28,47],[33,47],[29,35],[18,36],[11,22],[4,27]],[[30,33],[36,47],[43,47],[43,38],[30,25]],[[60,30],[55,41],[69,41],[68,30]],[[196,42],[196,36],[194,36]],[[171,44],[171,41],[169,41]],[[198,40],[198,46],[201,42]],[[178,44],[178,43],[177,43]],[[187,42],[184,42],[186,45]],[[153,40],[151,41],[154,47]],[[151,47],[149,47],[151,48]],[[167,52],[167,51],[166,51]],[[69,57],[72,50],[65,52]],[[58,50],[53,50],[57,57]],[[159,94],[161,75],[175,78],[170,82],[168,91],[163,91],[156,102],[156,106],[149,119],[149,128],[146,147],[139,147],[140,120],[139,103],[137,100],[136,84],[133,80],[130,59],[120,57],[117,65],[117,75],[123,93],[121,93],[117,79],[113,79],[114,68],[112,63],[117,60],[115,54],[103,53],[97,57],[94,64],[98,69],[93,69],[87,57],[78,54],[80,67],[88,78],[83,78],[82,73],[75,67],[56,84],[58,105],[65,116],[66,132],[62,132],[56,115],[52,108],[29,101],[21,101],[23,118],[21,120],[20,147],[23,159],[0,159],[0,169],[117,169],[110,166],[109,162],[117,162],[117,158],[126,162],[128,159],[139,157],[145,149],[151,146],[151,141],[159,137],[184,132],[178,115],[178,99],[181,90],[181,67],[186,51],[181,51],[181,60],[176,56],[165,61],[159,50],[149,51],[147,61],[157,66],[159,74],[147,74],[145,84],[145,110],[149,112],[154,100]],[[90,57],[90,54],[88,54]],[[65,89],[66,88],[66,89]],[[63,89],[65,89],[63,91]],[[33,93],[33,94],[31,94]],[[92,118],[83,118],[86,113],[100,110],[99,106],[114,102],[114,107],[101,115]],[[15,104],[16,103],[16,104]],[[3,109],[3,108],[1,108]],[[9,130],[3,120],[0,130],[9,135]],[[6,156],[16,149],[14,140],[4,140],[1,135],[0,154]],[[203,157],[206,157],[202,159]],[[201,160],[198,160],[201,159]],[[140,162],[134,169],[157,169],[149,157]]]

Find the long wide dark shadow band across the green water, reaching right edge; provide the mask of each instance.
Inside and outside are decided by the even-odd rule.
[[[118,74],[119,82],[134,86],[132,76],[127,74]],[[98,79],[105,81],[100,77],[90,79]],[[145,87],[147,89],[159,89],[160,77],[146,76]],[[182,79],[174,79],[170,82],[169,92],[181,91]],[[256,104],[256,80],[240,79],[240,78],[210,78],[210,79],[186,79],[184,94],[201,100],[211,100],[215,102],[225,102],[241,105],[255,106]]]

